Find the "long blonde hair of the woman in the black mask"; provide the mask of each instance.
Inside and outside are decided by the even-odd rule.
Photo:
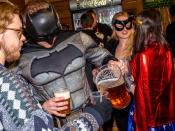
[[[126,17],[130,17],[130,15],[127,13],[127,12],[119,12],[119,13],[116,13],[114,16],[113,16],[113,19],[117,20],[118,17],[120,16],[126,16]],[[113,33],[111,35],[111,39],[115,39],[115,40],[119,40],[117,34],[116,34],[116,29],[114,27],[115,25],[112,23],[112,30],[113,30]],[[134,44],[134,36],[135,36],[135,30],[134,30],[134,27],[131,28],[131,35],[129,36],[128,38],[128,41],[126,43],[126,46],[124,48],[124,56],[126,59],[129,59],[129,57],[132,55],[132,51],[133,51],[133,44]]]

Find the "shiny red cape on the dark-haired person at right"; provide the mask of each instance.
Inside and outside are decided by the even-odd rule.
[[[151,42],[130,62],[135,80],[136,131],[175,121],[175,82],[170,49]]]

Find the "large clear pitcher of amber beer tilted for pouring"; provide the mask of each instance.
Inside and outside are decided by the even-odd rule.
[[[108,91],[108,98],[116,109],[123,109],[130,104],[131,98],[125,85],[121,70],[117,65],[100,67],[93,78],[98,90]]]

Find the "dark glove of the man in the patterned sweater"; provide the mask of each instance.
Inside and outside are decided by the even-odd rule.
[[[89,111],[91,109],[94,109],[93,111]],[[107,122],[111,119],[112,116],[112,104],[109,99],[104,99],[102,103],[97,105],[89,105],[85,109],[86,112],[92,114],[96,119],[97,115],[95,113],[98,113],[103,122],[100,122],[99,125],[102,125],[104,122]],[[97,120],[98,121],[98,120]]]

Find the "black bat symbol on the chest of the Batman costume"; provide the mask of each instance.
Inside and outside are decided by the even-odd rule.
[[[38,74],[47,72],[64,74],[68,64],[74,59],[82,56],[83,53],[77,47],[68,44],[66,48],[59,52],[55,51],[47,57],[34,59],[31,66],[31,75],[34,77]]]

